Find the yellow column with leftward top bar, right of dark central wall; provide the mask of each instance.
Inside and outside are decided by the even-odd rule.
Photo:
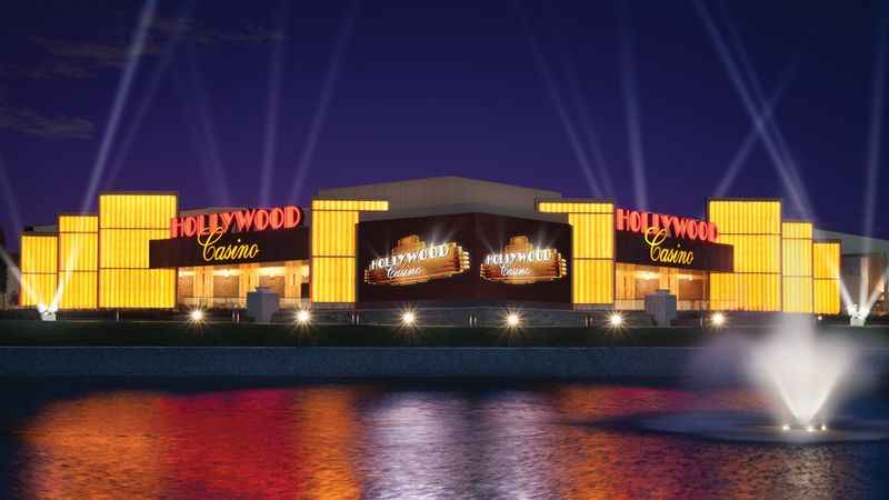
[[[542,213],[567,213],[571,224],[575,304],[615,303],[615,204],[601,201],[538,201]]]

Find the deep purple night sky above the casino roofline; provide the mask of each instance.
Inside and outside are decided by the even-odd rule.
[[[174,190],[184,209],[463,176],[702,217],[721,184],[855,233],[868,184],[887,184],[877,1],[14,3],[0,19],[13,249],[21,224],[81,209],[97,166],[97,190]]]

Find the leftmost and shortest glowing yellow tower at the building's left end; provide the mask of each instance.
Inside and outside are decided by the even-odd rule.
[[[58,237],[56,234],[21,236],[20,306],[50,306],[56,298]]]

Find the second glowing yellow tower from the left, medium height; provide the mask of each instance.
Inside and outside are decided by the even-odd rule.
[[[94,309],[99,288],[99,218],[59,216],[59,308]]]

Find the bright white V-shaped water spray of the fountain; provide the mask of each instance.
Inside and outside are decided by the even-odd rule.
[[[777,402],[781,421],[821,428],[856,357],[851,346],[819,339],[811,321],[785,320],[771,337],[750,348],[747,368]]]

